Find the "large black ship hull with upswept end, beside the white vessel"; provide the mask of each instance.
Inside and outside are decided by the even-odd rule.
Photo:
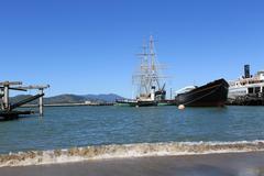
[[[224,79],[215,80],[189,92],[175,97],[177,106],[223,107],[228,99],[229,84]]]

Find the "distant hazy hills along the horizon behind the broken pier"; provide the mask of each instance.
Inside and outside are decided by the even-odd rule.
[[[10,98],[11,103],[18,102],[22,99],[31,97],[30,95],[19,95],[15,97]],[[114,95],[114,94],[108,94],[108,95],[85,95],[85,96],[78,96],[78,95],[58,95],[54,97],[47,97],[44,98],[45,105],[51,103],[81,103],[85,101],[91,101],[91,102],[114,102],[116,99],[123,99],[123,97]],[[37,100],[32,101],[32,103],[37,103]]]

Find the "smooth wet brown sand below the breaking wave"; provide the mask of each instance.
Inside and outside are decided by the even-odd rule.
[[[264,152],[1,167],[0,176],[264,176]]]

